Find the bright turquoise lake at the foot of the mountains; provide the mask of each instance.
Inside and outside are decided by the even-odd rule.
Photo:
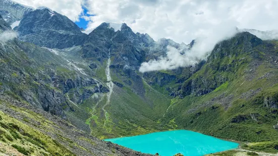
[[[145,135],[105,139],[144,153],[173,156],[182,153],[197,156],[234,149],[238,143],[188,130],[155,132]]]

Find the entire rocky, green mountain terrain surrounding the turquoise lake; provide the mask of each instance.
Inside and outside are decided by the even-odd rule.
[[[278,40],[238,30],[197,64],[142,73],[141,63],[194,40],[154,41],[125,23],[102,23],[87,35],[48,8],[0,4],[5,151],[147,155],[99,139],[188,129],[278,152]]]

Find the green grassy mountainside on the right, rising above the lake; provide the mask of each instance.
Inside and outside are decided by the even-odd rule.
[[[233,45],[235,39],[227,42]],[[162,122],[174,121],[177,128],[254,142],[244,145],[247,149],[278,152],[278,131],[273,128],[278,121],[278,50],[273,48],[277,42],[263,41],[248,50],[245,43],[229,51],[229,44],[220,44],[226,47],[212,52],[206,64],[183,83],[185,90],[181,92],[186,96],[175,98]]]

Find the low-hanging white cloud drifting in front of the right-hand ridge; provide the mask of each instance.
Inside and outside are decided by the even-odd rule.
[[[237,33],[235,27],[229,26],[228,23],[215,26],[214,29],[202,32],[201,36],[194,41],[192,48],[187,46],[177,49],[172,46],[167,47],[165,57],[159,57],[157,60],[143,62],[139,68],[140,72],[175,69],[178,67],[190,66],[206,59],[215,44],[221,40],[229,39]],[[206,36],[203,36],[206,34]],[[185,51],[185,52],[183,52]]]

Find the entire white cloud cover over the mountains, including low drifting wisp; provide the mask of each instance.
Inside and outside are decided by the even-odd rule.
[[[134,32],[148,33],[154,40],[170,38],[190,43],[192,50],[181,55],[169,47],[168,55],[142,64],[141,71],[187,66],[206,58],[214,45],[234,34],[234,28],[274,30],[278,27],[277,0],[16,0],[32,7],[46,6],[73,21],[82,13],[82,4],[92,16],[86,33],[102,22],[127,23]],[[256,34],[255,34],[256,35]],[[257,33],[262,37],[261,33]],[[268,32],[268,38],[277,33]]]

